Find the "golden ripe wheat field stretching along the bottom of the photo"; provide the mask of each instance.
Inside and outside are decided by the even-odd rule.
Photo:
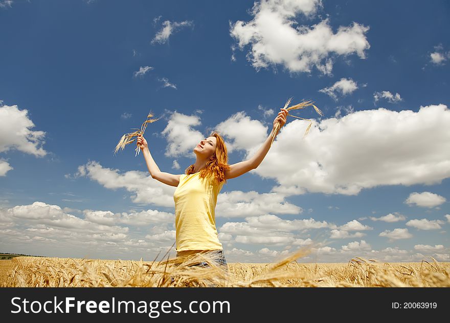
[[[450,287],[450,263],[387,263],[355,257],[348,263],[229,263],[205,256],[164,261],[15,257],[0,261],[1,287]],[[191,266],[198,260],[211,265]]]

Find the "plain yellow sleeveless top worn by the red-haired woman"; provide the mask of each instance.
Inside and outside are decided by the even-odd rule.
[[[214,210],[223,182],[217,184],[199,174],[181,175],[173,193],[177,252],[222,249]]]

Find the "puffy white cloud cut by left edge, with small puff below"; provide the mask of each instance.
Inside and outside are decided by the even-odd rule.
[[[35,125],[28,116],[28,110],[19,110],[16,105],[5,106],[0,101],[0,153],[18,150],[22,153],[43,157],[47,152],[41,145],[45,143],[43,131],[32,131]],[[0,160],[0,176],[13,167]]]

